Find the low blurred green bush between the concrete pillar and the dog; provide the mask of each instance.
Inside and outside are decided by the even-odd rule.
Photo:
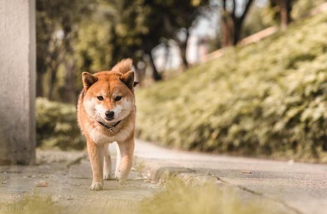
[[[82,149],[85,138],[76,120],[76,106],[36,99],[37,146]]]

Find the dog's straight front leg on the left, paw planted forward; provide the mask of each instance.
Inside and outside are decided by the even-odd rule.
[[[103,145],[87,140],[87,152],[93,174],[90,190],[101,190],[103,188]]]

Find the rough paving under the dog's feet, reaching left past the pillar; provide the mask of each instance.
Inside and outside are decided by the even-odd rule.
[[[37,151],[37,160],[39,165],[34,166],[0,166],[0,205],[37,194],[50,197],[64,210],[56,213],[133,213],[138,201],[160,189],[133,169],[126,185],[110,180],[104,181],[104,190],[90,191],[91,167],[83,152]],[[35,187],[40,180],[49,186]]]

